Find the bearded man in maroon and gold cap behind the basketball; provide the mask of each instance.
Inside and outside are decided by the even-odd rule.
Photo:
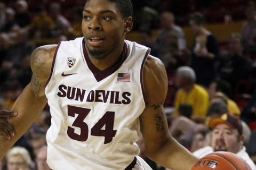
[[[209,125],[213,129],[211,147],[207,146],[196,150],[193,152],[196,157],[201,158],[213,151],[229,151],[242,157],[252,169],[256,169],[246,152],[243,126],[238,117],[223,114],[221,117],[213,118]]]

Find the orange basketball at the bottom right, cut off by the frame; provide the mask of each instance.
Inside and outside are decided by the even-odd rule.
[[[191,170],[252,170],[244,159],[231,152],[216,151],[199,159]]]

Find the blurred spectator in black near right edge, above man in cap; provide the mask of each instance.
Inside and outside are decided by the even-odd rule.
[[[218,76],[229,82],[233,95],[238,92],[239,81],[245,80],[252,72],[252,61],[242,55],[241,38],[239,33],[231,34],[228,40],[228,54],[221,57],[218,67]]]

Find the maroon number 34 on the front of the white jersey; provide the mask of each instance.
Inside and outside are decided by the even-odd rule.
[[[75,117],[75,114],[78,115],[72,126],[80,128],[81,130],[81,133],[77,134],[75,133],[74,128],[68,126],[67,133],[69,138],[77,141],[86,141],[88,139],[89,128],[88,125],[84,122],[84,119],[90,111],[91,109],[68,105],[68,116]],[[111,142],[113,140],[113,137],[115,137],[116,135],[116,130],[113,130],[114,119],[115,112],[106,112],[100,118],[100,120],[92,127],[91,135],[97,137],[105,137],[104,144]],[[102,129],[104,125],[105,129]]]

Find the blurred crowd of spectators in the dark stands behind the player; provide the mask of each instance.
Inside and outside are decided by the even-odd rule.
[[[205,25],[220,21],[208,18],[207,10],[228,0],[186,1],[190,5],[167,0],[132,2],[133,31],[139,31],[142,37],[138,43],[150,47],[151,54],[166,67],[169,89],[165,107],[172,136],[191,152],[209,146],[209,119],[228,113],[242,121],[243,145],[256,163],[256,2],[229,0],[243,2],[235,11],[242,10],[241,15],[232,10],[218,11],[221,22],[244,21],[242,31],[232,32],[224,48]],[[34,4],[32,0],[0,1],[0,109],[10,110],[29,83],[30,54],[36,47],[82,36],[83,1],[69,2],[73,6],[66,4],[64,10],[59,1]],[[194,33],[191,46],[183,25],[189,25]],[[157,30],[156,36],[153,30]],[[50,125],[46,105],[0,162],[0,170],[50,170],[45,140]],[[138,145],[141,157],[153,169],[164,169],[146,157],[143,141]]]

